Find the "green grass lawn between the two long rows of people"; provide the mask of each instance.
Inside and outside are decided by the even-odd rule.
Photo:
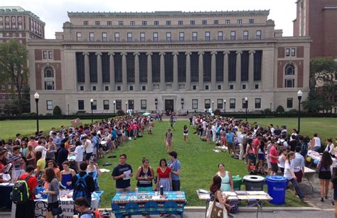
[[[178,159],[181,161],[181,190],[186,192],[188,199],[188,206],[204,206],[205,202],[198,200],[196,190],[199,188],[208,190],[212,182],[212,178],[218,171],[218,163],[225,163],[225,169],[229,170],[232,175],[247,175],[246,165],[243,160],[235,160],[231,158],[228,153],[215,153],[212,151],[214,143],[207,144],[204,141],[200,141],[198,136],[193,134],[193,129],[190,129],[189,143],[183,142],[183,125],[188,124],[188,121],[177,121],[173,131],[173,150],[177,151]],[[99,160],[100,165],[102,163],[112,163],[107,167],[111,170],[109,173],[103,173],[100,177],[100,190],[104,190],[102,195],[102,208],[111,207],[111,199],[115,194],[115,181],[112,180],[112,169],[114,165],[118,163],[119,154],[127,154],[127,163],[132,165],[134,171],[141,165],[141,158],[146,157],[150,160],[150,165],[154,168],[159,166],[159,160],[161,158],[169,159],[169,155],[166,154],[166,148],[164,143],[164,136],[166,130],[169,128],[169,121],[163,123],[156,122],[154,127],[154,135],[145,135],[142,138],[138,138],[135,141],[129,141],[125,143],[121,148],[117,148],[117,151],[113,151],[112,154],[117,155],[117,158],[103,158]],[[109,153],[107,156],[112,155]],[[136,179],[132,178],[132,189],[136,187]],[[242,186],[242,188],[244,188]],[[299,201],[299,198],[294,197],[290,192],[287,192],[286,205],[284,207],[300,207],[305,206]],[[269,205],[268,206],[272,206]],[[307,205],[306,205],[307,206]]]

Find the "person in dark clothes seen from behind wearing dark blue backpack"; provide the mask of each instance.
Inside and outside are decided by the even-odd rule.
[[[91,175],[87,172],[87,163],[80,163],[80,173],[73,176],[72,185],[74,187],[73,200],[78,197],[85,197],[89,205],[91,205],[91,193],[95,192],[95,182]]]

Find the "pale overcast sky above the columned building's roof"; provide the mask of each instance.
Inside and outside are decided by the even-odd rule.
[[[69,21],[67,11],[237,11],[267,10],[275,28],[283,29],[283,36],[292,36],[292,21],[296,18],[296,0],[11,0],[0,6],[21,6],[46,22],[46,38],[55,38],[55,31],[63,31]],[[10,2],[10,3],[9,3]]]

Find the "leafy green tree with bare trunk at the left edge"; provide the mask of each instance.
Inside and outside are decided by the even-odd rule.
[[[0,43],[0,81],[11,82],[16,87],[18,94],[16,107],[20,115],[22,114],[21,93],[23,85],[28,81],[27,58],[26,46],[18,40],[11,39],[6,43]]]

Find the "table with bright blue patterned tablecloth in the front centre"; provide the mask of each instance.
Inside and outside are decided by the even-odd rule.
[[[179,214],[183,217],[185,192],[117,192],[111,201],[116,217],[137,214]]]

